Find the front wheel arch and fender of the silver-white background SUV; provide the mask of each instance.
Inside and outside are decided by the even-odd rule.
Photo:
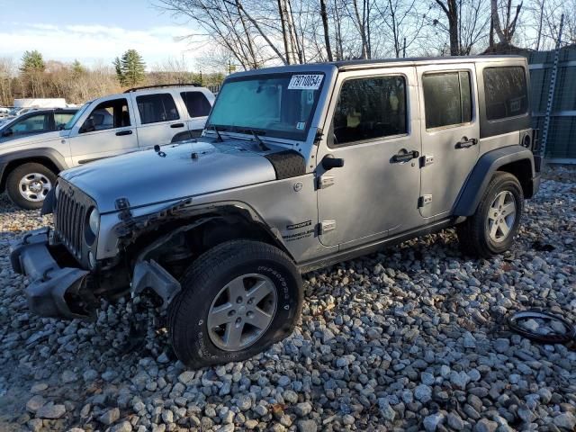
[[[0,156],[0,193],[6,188],[8,175],[18,166],[37,163],[49,168],[55,175],[67,168],[64,157],[53,148],[35,148],[15,151]]]

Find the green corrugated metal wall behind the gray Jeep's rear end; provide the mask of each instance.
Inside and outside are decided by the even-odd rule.
[[[527,54],[532,85],[533,127],[544,128],[554,51]],[[546,157],[557,162],[576,162],[576,46],[561,49]],[[566,160],[564,160],[566,159]]]

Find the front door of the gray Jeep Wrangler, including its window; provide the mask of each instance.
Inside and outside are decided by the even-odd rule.
[[[343,250],[422,223],[417,88],[414,67],[338,75],[317,171],[323,245]],[[323,157],[344,166],[327,170]]]

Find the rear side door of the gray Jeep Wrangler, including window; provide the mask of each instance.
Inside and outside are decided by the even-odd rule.
[[[480,122],[473,64],[417,67],[422,135],[419,209],[450,215],[479,156]]]

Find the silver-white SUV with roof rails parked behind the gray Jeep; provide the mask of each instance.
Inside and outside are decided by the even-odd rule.
[[[209,90],[193,85],[139,87],[86,103],[62,130],[22,135],[18,128],[52,124],[29,113],[22,127],[1,133],[0,192],[23,209],[40,208],[63,169],[200,136],[213,102]]]

